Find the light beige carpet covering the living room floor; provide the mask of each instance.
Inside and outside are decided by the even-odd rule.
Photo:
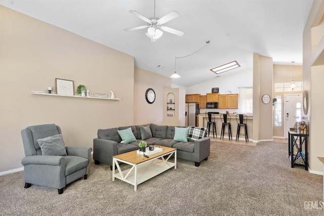
[[[25,189],[23,172],[16,172],[0,176],[0,215],[323,215],[304,208],[322,201],[322,176],[291,168],[287,145],[212,142],[211,156],[199,167],[179,159],[177,169],[136,192],[112,182],[102,163],[93,163],[88,180],[69,184],[62,195],[35,185]]]

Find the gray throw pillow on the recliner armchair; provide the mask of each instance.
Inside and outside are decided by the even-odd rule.
[[[63,137],[61,134],[37,139],[41,147],[42,155],[65,156],[67,155]]]

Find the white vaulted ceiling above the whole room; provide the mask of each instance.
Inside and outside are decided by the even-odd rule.
[[[155,42],[147,29],[124,31],[146,23],[129,13],[149,18],[153,0],[0,0],[0,4],[135,57],[135,66],[171,76],[175,57],[183,87],[216,78],[211,68],[237,61],[241,67],[221,76],[252,70],[253,53],[273,58],[274,64],[302,64],[302,37],[312,0],[156,0],[155,16],[171,11],[180,16],[164,25],[184,32],[164,32]],[[158,68],[158,65],[164,68]]]

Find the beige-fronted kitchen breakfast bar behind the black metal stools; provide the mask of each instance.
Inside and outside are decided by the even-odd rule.
[[[198,125],[199,127],[207,127],[207,121],[208,117],[206,118],[206,113],[200,113],[198,115]],[[216,122],[216,131],[217,131],[217,137],[220,138],[221,136],[221,131],[222,131],[222,121],[220,118],[221,114],[215,114],[215,118],[212,118],[213,121]],[[237,131],[237,122],[235,115],[236,114],[229,114],[231,117],[231,129],[232,129],[232,138],[235,140],[236,138],[236,131]],[[247,127],[248,127],[248,136],[249,136],[249,141],[253,141],[253,115],[247,115],[248,116],[248,122],[247,122]],[[215,119],[215,120],[214,120]],[[227,132],[227,127],[225,128],[225,134],[224,134],[224,139],[228,139],[228,134]],[[240,129],[240,134],[244,134],[244,128],[241,127]],[[211,128],[210,131],[210,136],[213,136],[213,128]],[[239,140],[245,140],[244,135],[239,136]]]

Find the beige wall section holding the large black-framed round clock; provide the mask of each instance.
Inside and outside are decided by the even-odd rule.
[[[171,87],[171,78],[135,67],[134,81],[134,124],[163,124],[164,88]],[[145,99],[148,88],[155,92],[153,104]]]

